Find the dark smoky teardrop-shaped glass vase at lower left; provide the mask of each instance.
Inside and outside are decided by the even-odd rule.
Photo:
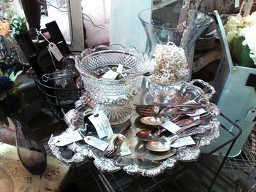
[[[42,142],[20,118],[12,118],[16,128],[16,146],[23,166],[32,174],[42,174],[47,165],[47,155]]]

